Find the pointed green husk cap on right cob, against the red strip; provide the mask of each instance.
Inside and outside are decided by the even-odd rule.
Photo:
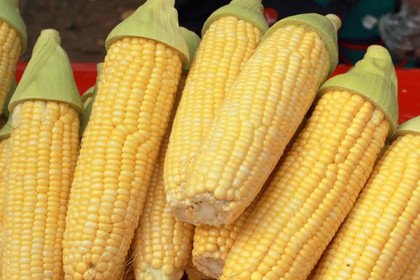
[[[353,68],[321,85],[318,96],[343,90],[363,96],[381,110],[391,125],[388,137],[393,135],[398,124],[398,84],[391,55],[386,48],[370,45],[365,57]]]

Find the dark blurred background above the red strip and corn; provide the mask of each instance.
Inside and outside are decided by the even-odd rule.
[[[229,0],[176,0],[180,25],[201,35],[209,15]],[[71,62],[101,62],[105,39],[144,0],[20,0],[29,47],[29,61],[42,29],[57,29]],[[420,0],[262,0],[269,25],[299,13],[335,13],[339,30],[340,64],[353,65],[368,45],[385,45],[398,67],[420,66]]]

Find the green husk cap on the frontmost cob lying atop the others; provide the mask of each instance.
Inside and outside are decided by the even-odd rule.
[[[306,31],[314,31],[321,36],[325,43],[325,48],[330,52],[330,72],[328,76],[335,71],[338,64],[338,45],[337,45],[337,31],[341,27],[341,20],[337,15],[318,15],[317,13],[304,13],[302,15],[293,15],[288,18],[283,18],[270,27],[262,38],[265,40],[268,36],[273,34],[277,29],[296,25],[302,27]]]

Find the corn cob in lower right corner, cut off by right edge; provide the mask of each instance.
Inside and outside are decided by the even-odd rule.
[[[415,271],[409,263],[420,249],[420,117],[400,125],[393,139],[311,279],[400,279],[407,267],[407,274]]]

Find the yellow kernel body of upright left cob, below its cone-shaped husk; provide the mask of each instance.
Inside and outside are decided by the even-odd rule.
[[[13,110],[6,176],[2,279],[62,279],[62,237],[79,148],[69,104],[25,101]]]

